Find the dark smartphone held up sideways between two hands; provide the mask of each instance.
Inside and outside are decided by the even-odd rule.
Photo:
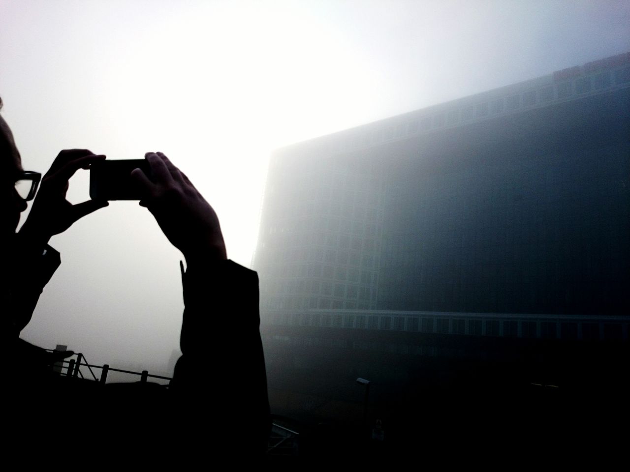
[[[140,188],[131,171],[140,169],[151,178],[146,159],[101,160],[89,166],[89,197],[102,200],[140,200]]]

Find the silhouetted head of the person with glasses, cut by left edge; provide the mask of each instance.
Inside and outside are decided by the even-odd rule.
[[[2,108],[0,98],[0,109]],[[20,152],[13,140],[11,128],[0,115],[0,228],[1,236],[13,234],[20,223],[20,213],[26,210],[26,202],[15,189],[15,179],[22,171]]]

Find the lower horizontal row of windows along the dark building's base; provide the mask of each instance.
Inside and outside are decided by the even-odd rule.
[[[423,333],[466,334],[567,340],[622,340],[627,323],[563,322],[538,320],[467,319],[454,317],[404,317],[341,315],[339,313],[275,313],[270,324],[353,329],[379,329]]]

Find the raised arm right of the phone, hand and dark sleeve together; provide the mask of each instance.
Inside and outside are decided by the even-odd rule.
[[[188,265],[182,274],[183,356],[172,384],[181,417],[202,422],[209,435],[203,441],[262,453],[270,416],[258,276],[227,260],[219,219],[188,177],[162,153],[147,153],[146,159],[151,179],[140,169],[132,172],[144,189],[140,205]]]

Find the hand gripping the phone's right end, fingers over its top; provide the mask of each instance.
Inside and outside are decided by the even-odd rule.
[[[227,259],[219,218],[188,177],[161,152],[147,152],[144,157],[151,167],[151,180],[140,169],[131,173],[144,193],[140,205],[155,216],[188,266]]]

